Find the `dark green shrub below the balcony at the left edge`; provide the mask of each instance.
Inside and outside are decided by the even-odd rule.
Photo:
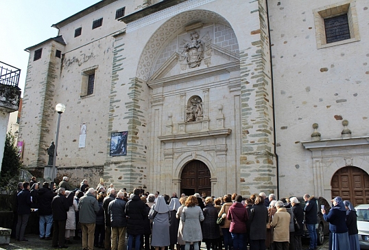
[[[8,192],[16,190],[21,166],[18,148],[15,146],[15,137],[8,133],[5,138],[3,163],[1,163],[0,190]]]

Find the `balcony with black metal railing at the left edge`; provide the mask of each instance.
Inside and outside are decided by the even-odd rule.
[[[17,111],[21,100],[19,76],[21,69],[17,69],[5,62],[0,62],[0,110],[8,113]]]

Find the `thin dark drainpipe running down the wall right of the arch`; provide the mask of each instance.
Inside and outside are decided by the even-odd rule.
[[[272,102],[273,102],[273,138],[274,138],[274,155],[276,156],[276,185],[277,185],[277,193],[276,196],[278,198],[281,198],[279,196],[279,161],[278,161],[278,154],[276,153],[276,109],[274,106],[274,78],[273,78],[273,58],[272,58],[272,41],[270,36],[270,22],[269,22],[269,9],[267,5],[267,0],[265,0],[266,6],[267,6],[267,31],[269,36],[269,49],[270,49],[270,79],[272,80]]]

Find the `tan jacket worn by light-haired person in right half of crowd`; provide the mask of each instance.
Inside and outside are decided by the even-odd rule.
[[[289,220],[291,216],[285,207],[278,208],[273,216],[272,227],[274,227],[274,241],[289,242]]]

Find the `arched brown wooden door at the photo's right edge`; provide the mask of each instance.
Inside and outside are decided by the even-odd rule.
[[[333,174],[332,197],[341,196],[354,206],[369,203],[369,175],[357,167],[344,167]]]

